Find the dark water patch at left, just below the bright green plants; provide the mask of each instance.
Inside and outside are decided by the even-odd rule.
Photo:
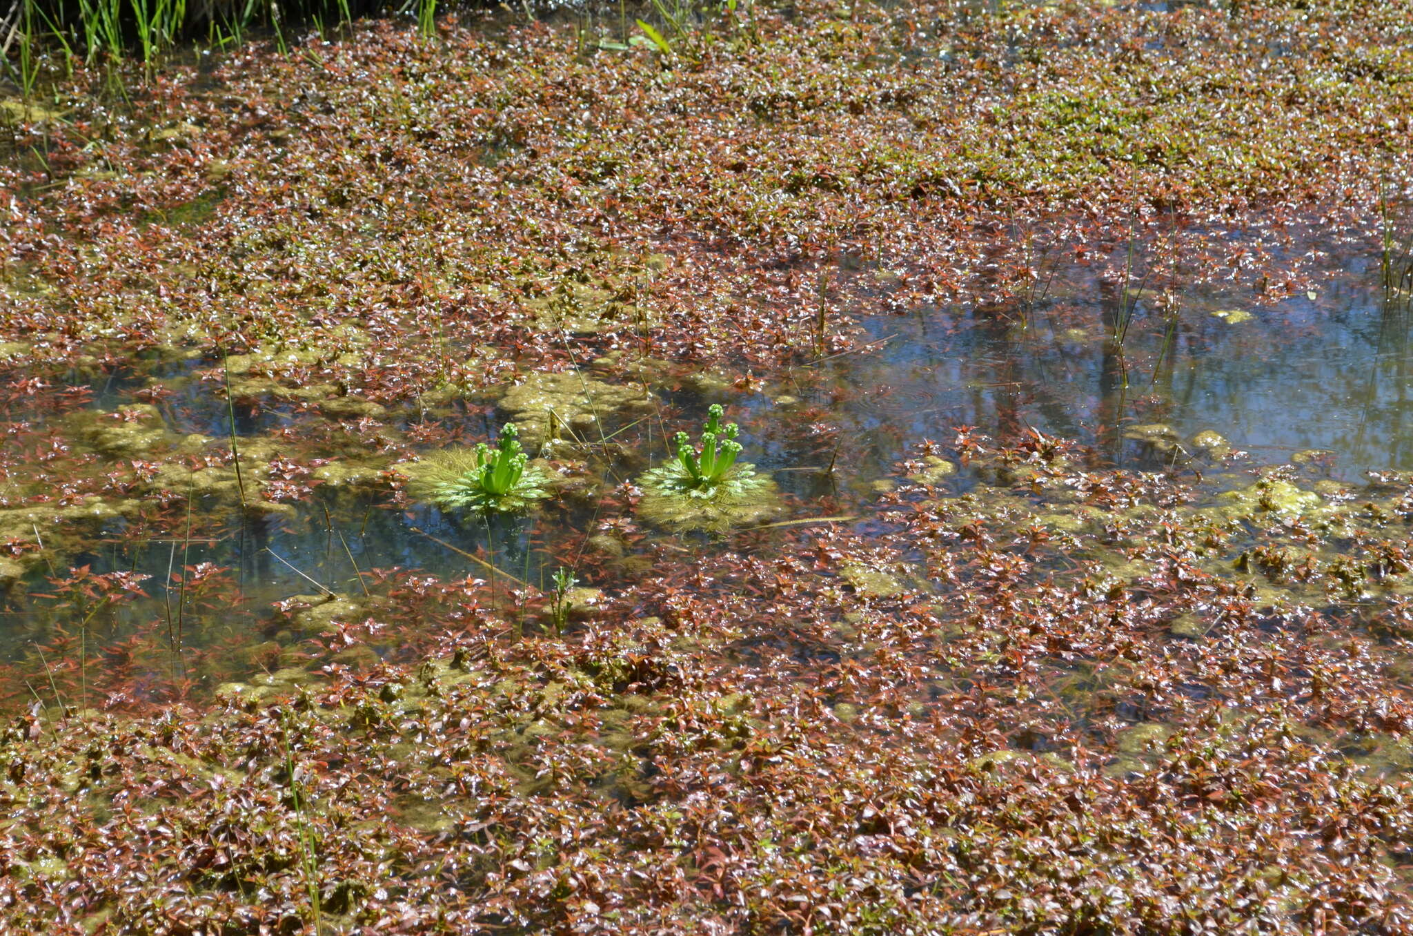
[[[201,519],[189,533],[172,536],[119,520],[78,547],[65,567],[32,570],[6,609],[0,655],[40,662],[44,648],[52,656],[82,635],[90,663],[100,666],[114,646],[137,640],[151,645],[148,667],[164,672],[191,653],[219,656],[268,639],[277,602],[295,595],[359,599],[391,570],[482,578],[504,590],[547,587],[552,573],[545,537],[557,527],[533,516],[403,512],[382,499],[352,498],[317,498],[260,517],[198,510]],[[79,602],[83,609],[75,616],[79,604],[69,592],[88,588],[64,584],[75,580],[73,570],[82,570],[78,580],[130,588],[122,588],[122,601],[105,601],[106,585],[99,587],[96,597]],[[318,636],[321,629],[326,628],[285,636]]]

